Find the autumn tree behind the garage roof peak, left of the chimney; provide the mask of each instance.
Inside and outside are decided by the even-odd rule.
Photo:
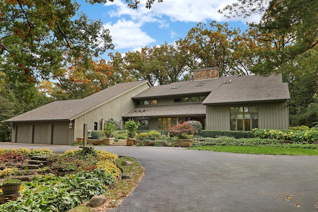
[[[144,47],[141,51],[109,54],[114,67],[110,76],[122,81],[148,80],[152,85],[168,84],[191,78],[188,75],[188,57],[178,44],[164,43],[152,48]]]

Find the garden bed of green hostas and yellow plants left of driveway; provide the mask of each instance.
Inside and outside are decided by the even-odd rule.
[[[25,156],[52,153],[50,150],[0,149],[0,156],[8,152]],[[116,154],[101,150],[92,150],[86,155],[82,155],[82,150],[51,154],[49,162],[52,169],[63,171],[64,176],[52,173],[33,176],[31,182],[22,184],[20,198],[1,205],[0,211],[64,212],[72,209],[93,195],[106,193],[108,187],[118,181],[121,170],[117,167],[117,160]]]

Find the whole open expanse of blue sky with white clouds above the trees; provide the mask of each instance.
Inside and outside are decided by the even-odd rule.
[[[258,22],[261,15],[251,15],[247,19],[236,17],[228,19],[218,13],[225,5],[231,4],[236,0],[163,0],[158,3],[155,1],[151,9],[145,8],[145,0],[141,0],[138,9],[127,7],[127,3],[122,0],[108,1],[104,6],[112,6],[108,14],[110,18],[117,22],[108,22],[104,25],[110,30],[115,49],[136,49],[145,47],[156,40],[147,34],[146,23],[154,24],[158,28],[169,28],[170,21],[180,22],[211,22],[215,21],[241,21]],[[170,37],[177,36],[174,29],[170,31]]]

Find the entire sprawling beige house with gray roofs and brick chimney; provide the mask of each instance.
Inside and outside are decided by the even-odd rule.
[[[281,74],[219,77],[217,67],[194,71],[194,80],[151,86],[148,81],[116,84],[79,100],[56,101],[13,117],[12,142],[72,144],[83,123],[101,130],[105,120],[128,119],[141,130],[164,130],[187,120],[205,129],[288,129],[290,99]],[[69,125],[72,124],[72,129]]]

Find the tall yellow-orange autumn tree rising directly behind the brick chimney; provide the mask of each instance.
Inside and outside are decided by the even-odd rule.
[[[187,54],[188,66],[192,70],[209,66],[219,67],[220,75],[248,75],[248,67],[253,58],[245,55],[254,46],[252,40],[240,35],[239,29],[229,29],[228,24],[212,21],[209,27],[199,23],[191,28],[178,44]]]

